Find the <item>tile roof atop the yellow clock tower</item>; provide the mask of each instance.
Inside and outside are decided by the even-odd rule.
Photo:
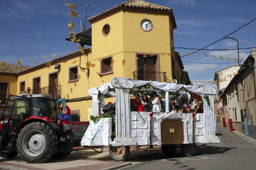
[[[157,5],[157,4],[152,4],[152,3],[149,3],[149,2],[145,2],[145,1],[142,1],[142,0],[130,0],[130,1],[126,1],[126,2],[123,2],[113,8],[110,8],[108,9],[107,11],[104,11],[104,12],[101,12],[100,14],[97,14],[91,18],[88,18],[87,21],[92,21],[93,19],[95,18],[98,18],[110,11],[113,11],[117,8],[120,8],[120,7],[131,7],[131,8],[141,8],[141,9],[150,9],[150,10],[162,10],[162,11],[169,11],[172,13],[172,17],[174,19],[174,23],[175,23],[175,28],[177,27],[176,25],[176,22],[175,22],[175,18],[174,18],[174,14],[172,12],[172,8],[169,8],[169,7],[165,7],[165,6],[161,6],[161,5]]]

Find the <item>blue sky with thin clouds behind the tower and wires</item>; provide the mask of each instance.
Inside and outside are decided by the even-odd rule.
[[[124,0],[125,1],[125,0]],[[90,4],[97,4],[89,9],[88,18],[105,11],[124,1],[119,0],[91,0]],[[75,18],[75,31],[79,32],[80,20],[84,21],[84,0],[67,0],[77,4],[78,18]],[[256,18],[255,0],[148,0],[148,2],[164,5],[173,9],[177,29],[174,30],[174,45],[176,47],[202,48],[233,32],[238,27]],[[65,38],[68,36],[67,23],[69,16],[63,0],[0,0],[0,60],[15,64],[17,59],[22,60],[23,65],[35,66],[32,61],[38,56],[38,63],[48,60],[42,59],[52,54],[56,57],[60,53],[68,54],[69,50],[76,51],[76,45]],[[87,23],[87,27],[90,23]],[[239,46],[256,46],[256,21],[245,26],[243,29],[232,34],[239,40]],[[210,46],[212,49],[236,48],[236,42],[221,40]],[[176,51],[186,54],[193,50],[177,49]],[[231,62],[237,58],[237,51],[200,51],[200,55],[192,54],[183,57],[184,61],[194,62]],[[208,54],[206,59],[204,54]],[[240,50],[240,58],[245,59],[250,50]],[[214,59],[212,55],[216,55]],[[225,60],[221,60],[223,56]],[[26,57],[31,57],[26,60]],[[9,60],[13,61],[9,61]],[[193,64],[183,62],[192,81],[212,81],[214,73],[230,64]]]

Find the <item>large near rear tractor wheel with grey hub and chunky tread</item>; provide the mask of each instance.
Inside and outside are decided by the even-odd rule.
[[[50,159],[57,148],[57,138],[46,123],[33,122],[21,129],[17,139],[20,158],[28,163],[42,163]]]

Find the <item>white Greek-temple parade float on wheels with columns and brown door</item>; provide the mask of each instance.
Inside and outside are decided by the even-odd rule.
[[[200,95],[203,100],[203,113],[177,113],[169,111],[166,102],[165,112],[131,111],[130,90],[149,84],[154,89],[165,92],[169,101],[169,92],[186,90]],[[115,91],[111,90],[115,89]],[[93,92],[92,92],[93,91]],[[109,146],[109,154],[116,161],[124,161],[130,154],[131,145],[161,145],[165,154],[173,154],[177,145],[185,156],[196,154],[196,143],[217,143],[215,135],[216,121],[214,114],[213,87],[200,87],[157,81],[140,81],[125,78],[114,78],[98,88],[89,90],[92,94],[92,107],[99,111],[99,93],[115,96],[115,115],[91,121],[82,146]]]

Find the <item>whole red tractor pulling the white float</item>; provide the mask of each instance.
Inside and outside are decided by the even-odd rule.
[[[0,156],[28,163],[67,157],[74,146],[73,125],[58,119],[51,95],[10,95],[0,120]]]

